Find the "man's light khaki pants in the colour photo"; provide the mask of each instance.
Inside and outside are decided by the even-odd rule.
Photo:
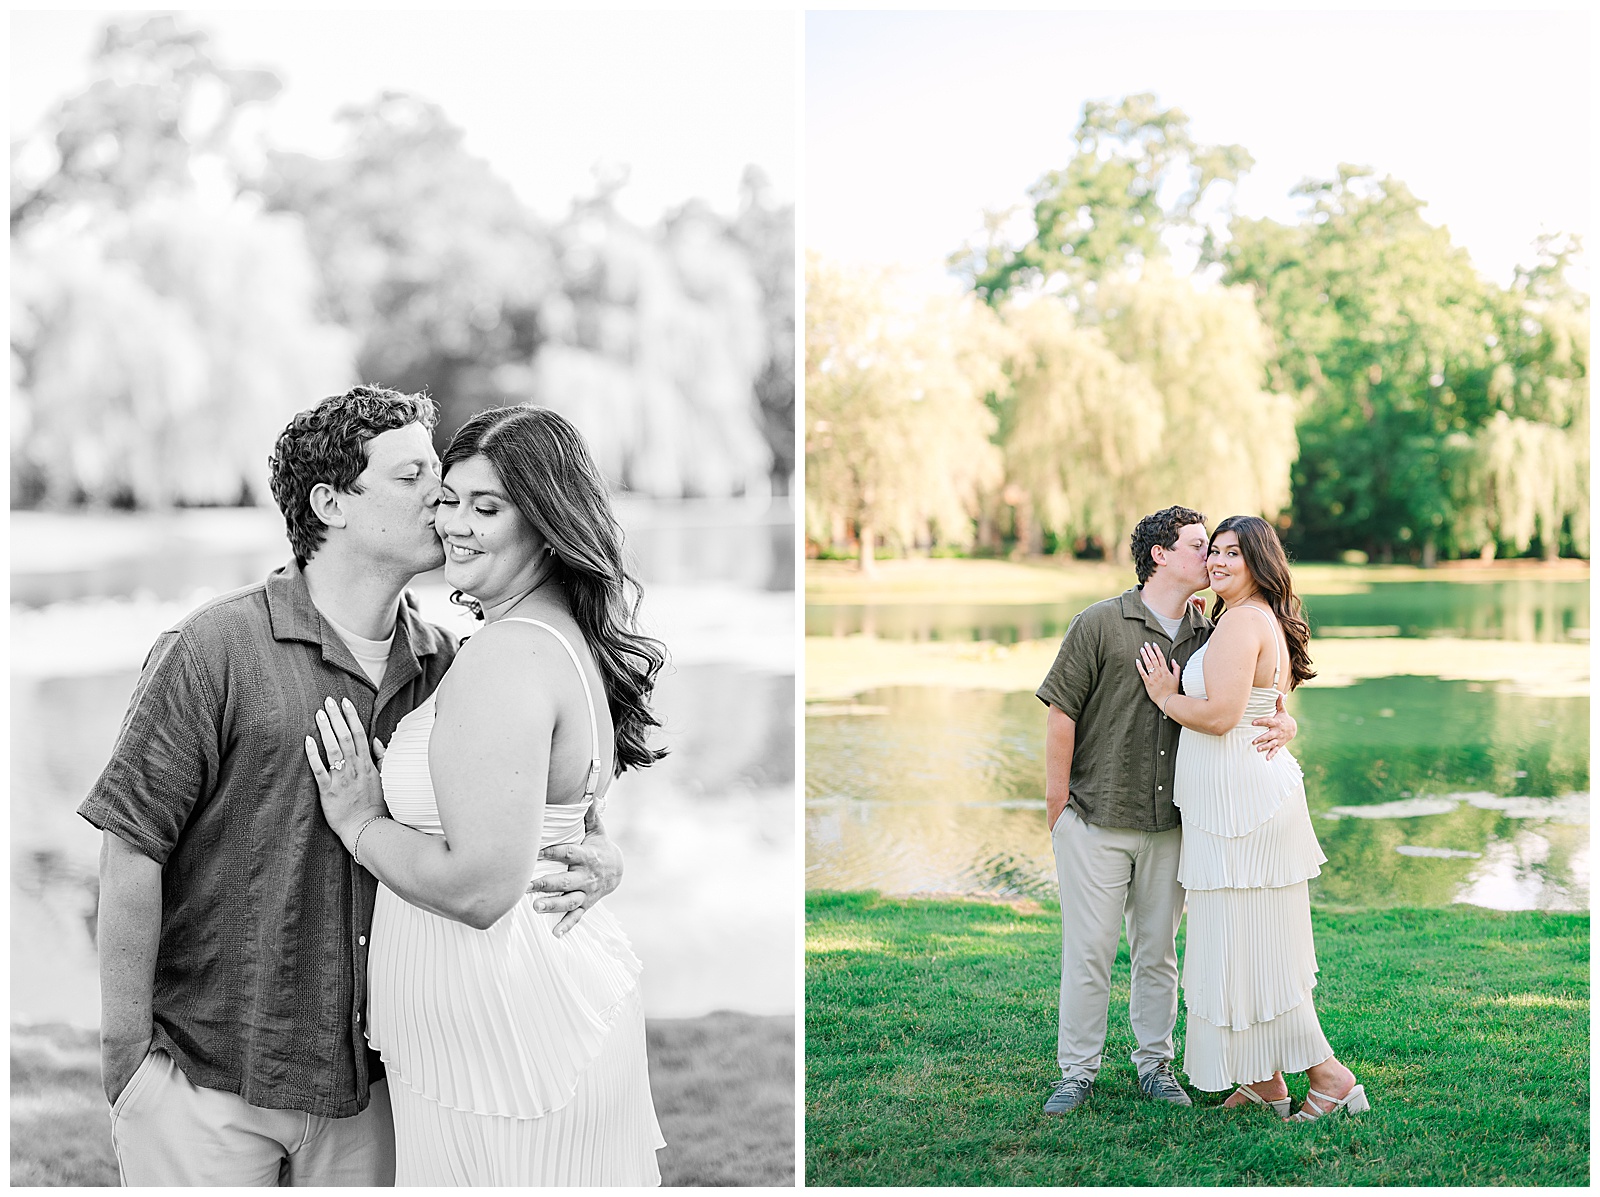
[[[1182,829],[1098,827],[1067,807],[1050,834],[1061,883],[1061,1018],[1056,1061],[1062,1079],[1099,1072],[1110,1007],[1110,965],[1128,928],[1133,976],[1128,1021],[1133,1066],[1173,1059],[1178,1023],[1178,883]]]

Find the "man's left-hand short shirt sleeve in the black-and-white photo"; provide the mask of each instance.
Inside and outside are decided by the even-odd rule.
[[[78,815],[166,864],[195,803],[216,784],[218,719],[184,634],[163,632],[144,659],[110,762]]]

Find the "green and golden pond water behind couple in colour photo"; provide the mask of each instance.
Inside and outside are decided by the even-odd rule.
[[[1062,634],[1082,605],[813,607],[806,627],[850,634],[870,619],[878,637],[1018,643]],[[1392,582],[1307,605],[1320,637],[1379,645],[1582,643],[1589,627],[1584,581]],[[1330,858],[1315,901],[1587,909],[1587,698],[1402,675],[1306,687],[1290,711]],[[818,704],[806,719],[806,887],[1054,896],[1043,725],[1029,691],[888,687]]]

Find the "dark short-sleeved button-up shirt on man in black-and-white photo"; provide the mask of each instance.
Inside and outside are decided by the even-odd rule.
[[[195,1085],[336,1119],[366,1107],[378,882],[322,816],[306,736],[333,696],[387,741],[454,655],[405,595],[373,687],[293,562],[157,639],[78,815],[162,866],[154,1047]]]

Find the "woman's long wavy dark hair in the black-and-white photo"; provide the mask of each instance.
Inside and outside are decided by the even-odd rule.
[[[477,456],[494,466],[507,498],[550,547],[552,576],[566,589],[573,619],[605,682],[616,773],[653,765],[667,755],[646,743],[650,728],[661,727],[650,714],[650,695],[667,653],[659,640],[635,631],[645,594],[622,565],[622,525],[589,446],[565,416],[520,403],[480,411],[462,424],[450,438],[440,474]],[[451,598],[462,602],[461,590]],[[477,603],[466,605],[483,618]]]

